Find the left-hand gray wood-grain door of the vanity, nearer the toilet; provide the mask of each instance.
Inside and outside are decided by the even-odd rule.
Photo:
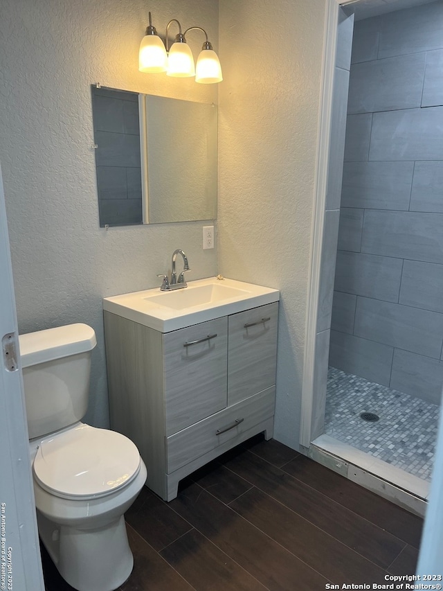
[[[166,435],[226,407],[228,319],[163,335]]]

